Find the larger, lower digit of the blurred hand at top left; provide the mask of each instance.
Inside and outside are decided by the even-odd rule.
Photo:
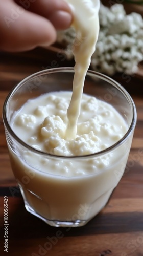
[[[56,40],[56,30],[46,18],[13,1],[1,1],[0,10],[1,50],[31,50],[37,46],[47,47]]]

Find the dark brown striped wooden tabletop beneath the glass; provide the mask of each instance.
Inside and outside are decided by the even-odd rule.
[[[0,109],[10,89],[26,76],[52,67],[73,66],[56,53],[36,49],[0,53]],[[143,89],[136,76],[115,77],[130,92],[137,109],[137,125],[125,174],[99,215],[80,228],[53,228],[26,211],[16,187],[0,114],[0,255],[11,256],[142,256],[143,255]],[[4,196],[8,197],[8,252],[4,251]],[[57,231],[60,238],[57,238]],[[46,248],[46,249],[45,249]]]

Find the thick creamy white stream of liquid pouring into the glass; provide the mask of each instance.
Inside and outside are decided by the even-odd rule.
[[[67,110],[67,129],[65,138],[75,138],[77,134],[77,121],[80,115],[81,98],[86,72],[95,51],[99,35],[99,0],[67,0],[73,13],[73,26],[76,30],[76,39],[73,46],[75,56],[75,76],[73,82],[73,95]]]

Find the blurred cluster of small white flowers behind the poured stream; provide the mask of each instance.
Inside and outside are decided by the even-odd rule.
[[[123,5],[110,8],[101,4],[100,32],[96,51],[91,58],[91,68],[108,75],[116,72],[133,74],[143,60],[143,19],[138,13],[126,14]],[[58,41],[65,41],[67,57],[73,57],[72,44],[75,31],[59,32]]]

